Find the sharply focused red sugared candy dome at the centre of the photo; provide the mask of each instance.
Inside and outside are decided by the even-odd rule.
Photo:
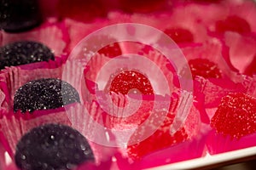
[[[154,94],[148,77],[138,71],[121,71],[113,78],[109,91],[128,94],[132,89],[137,89],[141,94]]]

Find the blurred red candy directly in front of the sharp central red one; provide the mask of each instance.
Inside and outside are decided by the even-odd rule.
[[[175,97],[175,95],[172,97],[172,103],[166,115],[162,115],[160,111],[151,111],[148,122],[137,127],[135,133],[131,135],[127,153],[132,160],[140,160],[148,154],[181,144],[198,134],[200,118],[193,106],[183,126],[178,128],[175,133],[171,132],[174,118],[177,116],[177,111],[180,110],[177,107],[179,97]]]

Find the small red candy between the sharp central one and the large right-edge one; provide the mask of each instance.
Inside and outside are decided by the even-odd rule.
[[[221,78],[221,71],[218,66],[208,59],[190,59],[189,67],[192,77]]]

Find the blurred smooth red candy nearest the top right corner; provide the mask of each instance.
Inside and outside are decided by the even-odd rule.
[[[236,31],[238,33],[246,33],[251,31],[251,27],[246,20],[234,15],[229,16],[226,20],[219,20],[216,23],[216,31]]]

